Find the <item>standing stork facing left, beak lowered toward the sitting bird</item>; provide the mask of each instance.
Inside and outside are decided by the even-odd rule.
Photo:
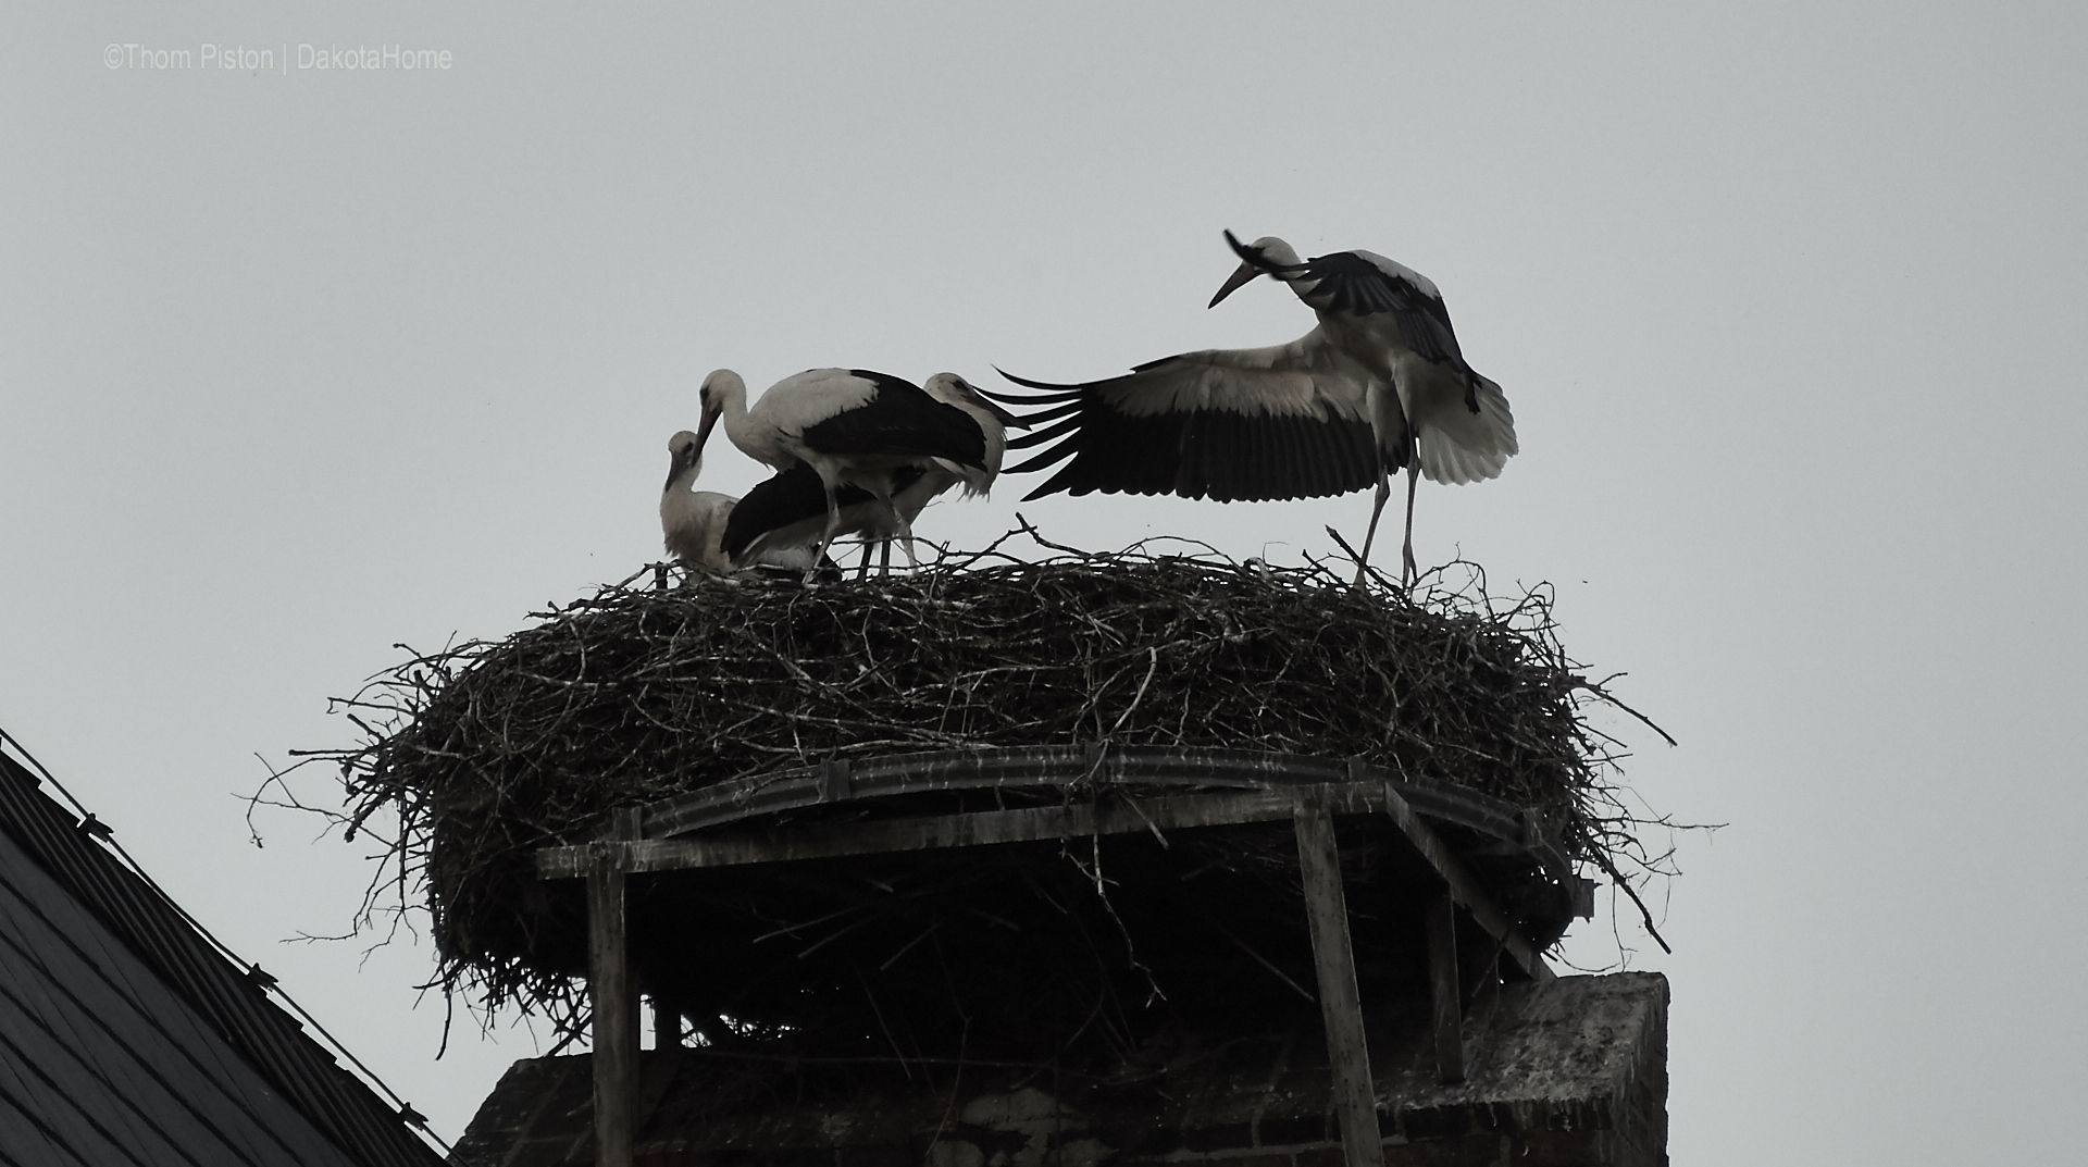
[[[827,503],[814,562],[841,528],[837,491],[867,491],[902,539],[912,528],[892,501],[900,468],[940,468],[969,482],[990,482],[986,434],[963,409],[921,386],[869,370],[806,370],[783,378],[748,407],[748,384],[731,370],[704,378],[697,449],[722,420],[725,436],[748,457],[779,472],[810,466]],[[981,486],[983,489],[983,486]],[[908,545],[908,555],[912,549]],[[810,572],[808,572],[810,578]]]

